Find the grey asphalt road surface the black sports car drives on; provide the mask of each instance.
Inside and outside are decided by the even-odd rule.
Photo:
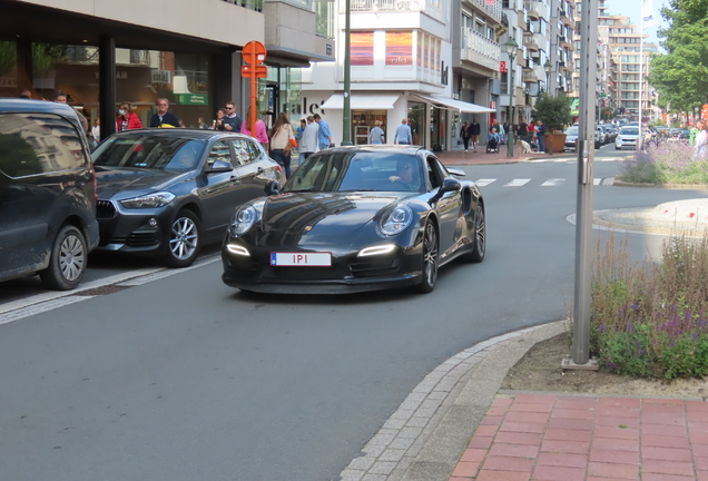
[[[486,259],[429,295],[245,295],[212,263],[0,325],[0,478],[337,479],[440,363],[571,310],[576,166],[465,171],[495,179]],[[594,208],[699,194],[598,186]],[[660,243],[629,237],[637,257]]]

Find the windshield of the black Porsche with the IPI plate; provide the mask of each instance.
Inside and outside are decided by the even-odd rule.
[[[284,192],[424,192],[421,159],[386,151],[332,151],[309,157]]]

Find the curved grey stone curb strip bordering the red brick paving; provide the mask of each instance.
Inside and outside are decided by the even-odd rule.
[[[448,481],[509,370],[567,323],[496,336],[450,357],[415,386],[342,481]]]

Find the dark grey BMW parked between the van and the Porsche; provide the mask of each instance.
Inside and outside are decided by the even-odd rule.
[[[92,154],[98,249],[147,253],[171,267],[220,240],[234,208],[272,194],[281,167],[252,137],[213,130],[128,130]]]

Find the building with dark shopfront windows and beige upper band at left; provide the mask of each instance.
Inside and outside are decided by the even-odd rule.
[[[130,102],[144,125],[167,98],[187,126],[209,122],[227,100],[243,112],[240,50],[266,45],[263,115],[302,110],[299,69],[334,59],[333,11],[312,0],[0,0],[0,96],[57,90],[115,129],[116,108]]]

